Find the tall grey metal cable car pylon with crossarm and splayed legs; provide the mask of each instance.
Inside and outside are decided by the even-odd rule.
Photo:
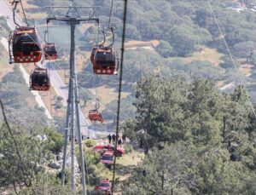
[[[80,127],[79,118],[79,91],[78,91],[78,79],[76,72],[76,51],[75,51],[75,28],[83,21],[95,21],[99,24],[99,19],[96,17],[96,7],[83,7],[83,6],[50,6],[49,11],[51,16],[47,18],[47,24],[51,20],[65,21],[70,25],[71,32],[71,42],[70,42],[70,67],[69,67],[69,85],[68,85],[68,100],[67,100],[67,118],[65,127],[65,139],[64,139],[64,152],[63,152],[63,163],[61,170],[61,185],[65,185],[65,169],[67,163],[67,146],[70,141],[71,144],[71,189],[74,194],[76,194],[76,181],[75,181],[75,169],[74,169],[74,135],[77,129],[78,141],[79,141],[79,155],[82,173],[82,186],[83,195],[86,195],[86,185],[85,185],[85,173],[84,173],[84,153],[82,145],[82,135]],[[53,9],[65,9],[67,8],[67,13],[64,16],[55,16]],[[82,17],[79,14],[79,9],[89,9],[89,14],[87,17]],[[69,131],[69,136],[68,136]]]

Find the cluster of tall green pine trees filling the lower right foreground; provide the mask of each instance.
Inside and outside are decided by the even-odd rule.
[[[125,194],[254,194],[255,115],[241,86],[150,75],[137,82],[136,118],[124,125],[147,157]]]

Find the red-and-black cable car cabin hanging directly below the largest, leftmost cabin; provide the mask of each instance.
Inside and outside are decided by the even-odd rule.
[[[50,87],[47,69],[36,68],[30,75],[30,90],[48,91]]]

